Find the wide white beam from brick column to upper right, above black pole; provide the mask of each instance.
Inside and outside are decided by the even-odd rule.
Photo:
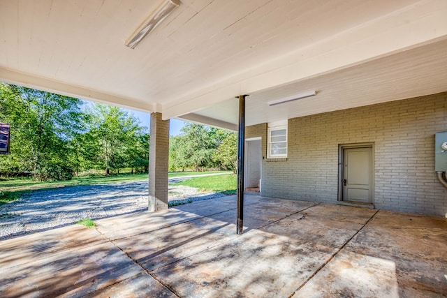
[[[447,38],[447,1],[419,1],[163,105],[163,119]]]

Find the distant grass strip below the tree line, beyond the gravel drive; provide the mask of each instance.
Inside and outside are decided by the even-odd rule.
[[[226,173],[217,175],[216,181],[219,179],[226,179],[224,177],[230,176],[231,172],[170,172],[169,177],[184,177],[184,176],[193,176],[200,174],[214,174],[214,173]],[[213,176],[210,176],[212,178]],[[203,177],[205,178],[205,177]],[[11,202],[20,198],[20,195],[24,192],[28,191],[37,191],[48,188],[58,188],[58,187],[66,187],[66,186],[81,186],[81,185],[94,185],[94,184],[112,184],[119,182],[132,182],[132,181],[142,181],[148,179],[147,174],[118,174],[111,176],[103,176],[103,175],[95,175],[95,176],[86,176],[86,177],[75,177],[71,180],[66,181],[34,181],[32,179],[6,179],[0,181],[0,205],[5,204],[6,202]],[[191,178],[189,180],[193,180],[196,178]],[[186,182],[184,181],[184,182]],[[184,183],[182,182],[182,183]],[[199,188],[207,188],[205,186],[193,186]]]

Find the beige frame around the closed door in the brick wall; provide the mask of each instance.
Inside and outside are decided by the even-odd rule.
[[[347,202],[343,200],[343,177],[344,177],[344,149],[358,149],[358,148],[371,148],[371,158],[372,158],[372,181],[371,181],[371,187],[372,187],[372,198],[371,198],[371,204],[374,205],[374,182],[375,182],[375,162],[374,162],[374,142],[365,142],[365,143],[353,143],[353,144],[339,144],[338,145],[338,198],[337,202]],[[359,203],[356,203],[359,204]]]

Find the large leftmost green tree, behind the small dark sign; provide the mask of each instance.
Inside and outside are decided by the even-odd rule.
[[[83,130],[76,98],[0,84],[0,121],[11,124],[11,154],[2,172],[29,172],[35,179],[71,179],[68,142]]]

